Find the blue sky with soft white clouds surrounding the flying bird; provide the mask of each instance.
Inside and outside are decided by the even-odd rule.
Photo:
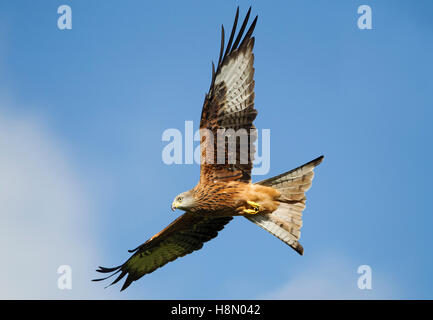
[[[72,30],[57,28],[62,4]],[[171,201],[199,167],[165,165],[162,133],[198,123],[220,26],[251,4],[255,123],[271,129],[270,172],[253,179],[325,155],[305,255],[239,218],[126,292],[91,283],[180,214]],[[357,27],[362,4],[372,30]],[[0,296],[433,298],[432,12],[430,1],[3,1]],[[62,264],[72,290],[57,288]],[[369,291],[356,286],[364,264]]]

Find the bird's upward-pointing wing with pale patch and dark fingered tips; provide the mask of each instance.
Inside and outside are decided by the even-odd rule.
[[[205,96],[200,120],[201,183],[215,180],[251,181],[256,131],[254,109],[254,37],[257,16],[242,38],[251,8],[236,39],[235,22],[224,52],[224,27],[221,49],[215,72],[212,63],[212,83]],[[234,42],[233,42],[234,40]],[[230,145],[230,143],[232,143]]]

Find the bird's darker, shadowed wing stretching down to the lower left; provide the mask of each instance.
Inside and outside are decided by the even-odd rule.
[[[139,247],[129,250],[134,254],[124,264],[114,268],[99,267],[96,271],[112,274],[93,281],[105,280],[120,273],[110,285],[117,283],[127,275],[121,289],[125,290],[131,282],[140,279],[145,274],[201,249],[203,243],[215,238],[218,231],[221,231],[231,219],[232,217],[212,218],[185,213]]]

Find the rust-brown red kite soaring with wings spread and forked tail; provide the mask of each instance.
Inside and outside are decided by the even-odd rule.
[[[215,70],[212,63],[211,86],[200,119],[200,180],[172,203],[172,210],[185,213],[142,245],[129,250],[133,255],[122,265],[99,267],[98,272],[111,274],[94,281],[117,275],[112,285],[126,276],[121,289],[125,290],[133,281],[166,263],[201,249],[233,216],[247,218],[303,254],[298,241],[305,192],[311,187],[313,170],[323,156],[273,178],[251,182],[253,143],[257,138],[253,125],[257,110],[252,36],[257,16],[244,34],[250,12],[251,8],[236,35],[237,9],[226,46],[224,26],[221,30],[218,64]],[[242,143],[245,137],[247,142]],[[235,142],[234,147],[230,141]]]

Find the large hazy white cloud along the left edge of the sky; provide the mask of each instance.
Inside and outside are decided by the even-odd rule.
[[[101,298],[90,282],[102,258],[85,183],[39,120],[7,110],[0,108],[0,298]],[[72,290],[57,287],[65,264]]]

